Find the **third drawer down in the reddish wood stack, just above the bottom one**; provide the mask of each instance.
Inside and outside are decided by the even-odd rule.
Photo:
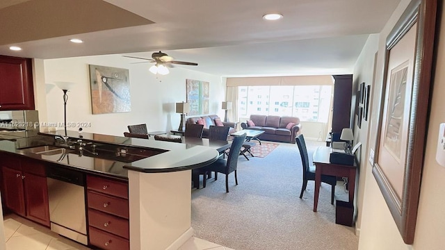
[[[108,233],[114,233],[115,235],[119,235],[126,239],[129,239],[130,237],[128,219],[122,219],[121,217],[108,215],[106,213],[102,213],[89,208],[88,224],[103,231],[107,231]]]

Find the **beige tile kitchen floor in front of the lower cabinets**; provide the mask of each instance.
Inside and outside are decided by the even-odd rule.
[[[49,228],[35,224],[17,215],[3,219],[6,250],[88,250],[88,247],[51,232]],[[178,250],[234,250],[218,244],[191,238]]]

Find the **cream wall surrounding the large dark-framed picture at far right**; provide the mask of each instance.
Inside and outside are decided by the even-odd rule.
[[[402,0],[392,15],[387,25],[380,33],[377,74],[375,80],[373,110],[378,108],[378,99],[381,95],[382,68],[385,53],[385,40],[391,28],[394,26],[409,0]],[[441,27],[445,27],[443,13]],[[439,18],[440,20],[440,18]],[[371,173],[371,165],[366,161],[366,181],[364,183],[362,222],[359,238],[359,249],[444,249],[443,232],[445,231],[445,168],[437,164],[435,153],[439,124],[445,122],[443,110],[443,97],[445,92],[445,28],[437,30],[440,33],[439,47],[437,49],[437,65],[432,79],[432,102],[428,134],[426,140],[425,162],[421,180],[421,192],[419,199],[419,211],[417,215],[416,233],[414,244],[406,245],[394,222],[387,203]],[[377,130],[377,114],[373,112],[369,130],[369,148],[375,144],[375,131]],[[367,150],[369,153],[369,149]]]

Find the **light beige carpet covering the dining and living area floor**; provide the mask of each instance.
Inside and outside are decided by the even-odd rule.
[[[323,142],[307,141],[309,161]],[[322,183],[318,212],[312,212],[314,181],[299,198],[302,167],[296,144],[280,143],[266,158],[238,158],[238,184],[229,175],[192,190],[195,237],[236,250],[346,249],[355,250],[354,228],[335,224],[330,185]],[[336,199],[346,200],[343,185]]]

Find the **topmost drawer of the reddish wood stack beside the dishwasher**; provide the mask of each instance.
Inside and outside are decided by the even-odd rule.
[[[86,185],[90,190],[96,190],[97,192],[103,192],[105,194],[128,199],[128,183],[96,176],[87,176]]]

